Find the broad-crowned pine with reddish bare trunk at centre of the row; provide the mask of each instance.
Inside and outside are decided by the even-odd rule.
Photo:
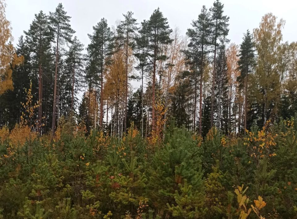
[[[152,75],[152,130],[155,128],[155,99],[156,99],[156,63],[158,60],[166,60],[166,56],[161,55],[161,48],[172,42],[170,39],[170,29],[167,18],[164,18],[160,9],[154,10],[149,20],[141,22],[140,34],[142,38],[142,47],[151,64]]]

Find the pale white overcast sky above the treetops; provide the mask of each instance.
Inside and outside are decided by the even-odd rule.
[[[28,30],[34,14],[43,10],[46,14],[54,11],[62,2],[67,14],[71,16],[71,26],[75,35],[86,46],[89,43],[87,34],[92,27],[105,17],[110,26],[122,19],[122,14],[131,10],[138,23],[149,19],[153,10],[160,7],[168,18],[170,27],[179,27],[182,35],[197,19],[202,5],[210,8],[214,0],[6,0],[6,17],[11,21],[12,34],[17,42],[24,30]],[[284,41],[297,40],[297,1],[295,0],[222,0],[224,14],[230,17],[228,38],[240,44],[243,33],[259,26],[261,17],[272,12],[278,19],[286,21],[282,31]]]

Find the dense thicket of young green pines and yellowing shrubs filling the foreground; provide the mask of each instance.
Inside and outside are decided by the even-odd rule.
[[[52,140],[26,125],[3,127],[2,216],[294,218],[295,119],[237,139],[215,129],[203,139],[170,121],[153,150],[133,125],[123,138],[86,136],[83,124],[62,118]]]

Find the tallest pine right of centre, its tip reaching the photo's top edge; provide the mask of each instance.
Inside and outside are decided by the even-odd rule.
[[[215,79],[216,79],[216,55],[217,55],[217,40],[218,39],[225,39],[226,43],[229,41],[226,39],[226,36],[228,35],[229,29],[228,29],[228,22],[229,17],[226,15],[223,15],[223,8],[224,5],[217,0],[213,3],[213,7],[211,7],[209,10],[211,12],[211,42],[214,46],[214,58],[213,58],[213,88],[212,88],[212,103],[211,103],[211,120],[210,120],[210,126],[213,126],[213,107],[214,107],[214,88],[215,88]]]

